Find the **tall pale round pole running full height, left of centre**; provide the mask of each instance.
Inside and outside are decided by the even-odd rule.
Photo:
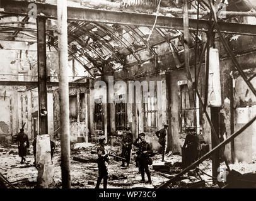
[[[57,16],[59,33],[59,92],[61,103],[61,177],[62,188],[71,188],[69,84],[67,66],[67,0],[57,0]]]

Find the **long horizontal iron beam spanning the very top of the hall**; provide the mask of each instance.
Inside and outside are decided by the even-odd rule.
[[[26,16],[30,11],[28,5],[32,2],[1,0],[1,13]],[[37,3],[37,13],[44,14],[46,18],[57,18],[57,6],[53,4]],[[107,11],[100,9],[68,7],[69,20],[91,21],[98,23],[126,24],[136,26],[153,26],[155,15],[140,13],[124,13],[120,11]],[[256,26],[239,23],[219,23],[222,33],[235,33],[240,35],[256,35]],[[172,28],[183,30],[183,18],[159,16],[156,28]],[[196,30],[197,19],[190,19],[189,30]],[[207,31],[209,21],[199,20],[199,31]]]

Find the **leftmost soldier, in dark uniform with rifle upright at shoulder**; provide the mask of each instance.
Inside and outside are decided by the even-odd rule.
[[[26,151],[30,147],[29,141],[28,141],[28,135],[24,133],[24,126],[20,129],[20,133],[18,133],[16,137],[16,141],[18,141],[18,151],[19,151],[19,156],[21,157],[21,164],[24,163],[26,160]]]

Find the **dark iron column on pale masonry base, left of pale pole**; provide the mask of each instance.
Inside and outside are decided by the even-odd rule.
[[[37,66],[38,66],[38,109],[39,128],[38,134],[48,134],[47,124],[47,67],[46,67],[46,19],[37,18]]]

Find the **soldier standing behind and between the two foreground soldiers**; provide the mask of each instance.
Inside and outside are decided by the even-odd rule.
[[[130,159],[131,159],[131,149],[132,149],[132,143],[133,143],[133,136],[131,132],[131,128],[127,127],[125,134],[122,138],[122,158],[125,158],[125,160],[122,160],[122,167],[125,166],[125,162],[127,163],[127,167],[129,166]]]

